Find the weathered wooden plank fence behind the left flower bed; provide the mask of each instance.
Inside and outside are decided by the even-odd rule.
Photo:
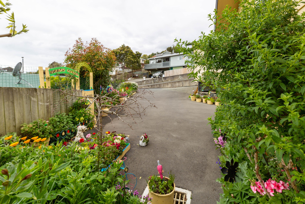
[[[74,91],[81,96],[81,91]],[[48,120],[56,113],[68,113],[77,97],[65,98],[57,89],[0,87],[0,137],[9,132],[20,134],[23,123]]]

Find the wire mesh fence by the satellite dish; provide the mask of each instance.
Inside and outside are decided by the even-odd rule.
[[[0,65],[0,87],[39,87],[38,67],[23,67],[14,72],[15,66]]]

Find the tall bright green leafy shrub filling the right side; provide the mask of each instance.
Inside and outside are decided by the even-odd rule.
[[[221,203],[305,203],[305,15],[297,4],[244,0],[240,12],[224,9],[215,31],[177,41],[195,65],[190,76],[223,103],[210,118],[228,173]]]

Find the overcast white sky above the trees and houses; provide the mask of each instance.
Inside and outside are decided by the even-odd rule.
[[[3,0],[2,0],[3,1]],[[5,1],[5,0],[4,0]],[[3,2],[4,2],[3,1]],[[0,65],[24,67],[63,63],[66,51],[80,37],[97,38],[116,49],[122,44],[142,54],[165,50],[174,39],[192,41],[210,32],[207,15],[215,0],[10,0],[17,31],[29,32],[0,38]],[[9,33],[9,21],[0,15],[0,34]]]

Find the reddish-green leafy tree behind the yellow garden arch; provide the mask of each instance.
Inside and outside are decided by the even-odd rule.
[[[99,87],[109,85],[110,74],[115,65],[115,55],[112,50],[103,46],[96,38],[84,43],[81,38],[75,41],[74,46],[65,54],[64,63],[67,67],[76,69],[77,63],[86,62],[93,71],[93,89],[99,93]],[[89,71],[84,67],[80,69],[81,77],[88,77]]]

